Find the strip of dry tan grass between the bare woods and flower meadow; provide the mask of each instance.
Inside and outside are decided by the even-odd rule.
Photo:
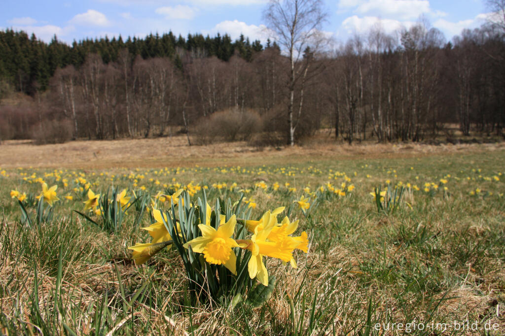
[[[398,144],[314,144],[258,149],[245,142],[188,146],[185,136],[156,139],[72,141],[36,146],[30,141],[10,140],[0,145],[2,167],[47,167],[68,169],[110,169],[121,167],[174,167],[252,165],[305,162],[318,159],[401,158],[447,153],[483,152],[505,148],[505,144],[426,145]]]

